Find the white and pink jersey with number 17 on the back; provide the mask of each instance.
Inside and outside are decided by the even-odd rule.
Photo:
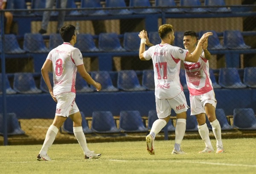
[[[159,99],[174,98],[183,91],[180,84],[180,60],[188,52],[169,44],[155,45],[143,53],[154,66],[155,96]]]

